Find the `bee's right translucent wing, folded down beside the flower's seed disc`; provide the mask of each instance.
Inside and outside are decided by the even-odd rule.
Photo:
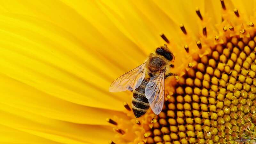
[[[145,88],[145,95],[153,112],[158,115],[164,106],[164,73],[150,78]]]

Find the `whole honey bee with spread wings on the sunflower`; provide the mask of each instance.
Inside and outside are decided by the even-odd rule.
[[[132,111],[135,117],[143,116],[148,108],[158,115],[164,105],[164,79],[173,76],[165,72],[173,67],[174,55],[167,45],[156,49],[137,68],[117,78],[109,87],[109,92],[133,91]]]

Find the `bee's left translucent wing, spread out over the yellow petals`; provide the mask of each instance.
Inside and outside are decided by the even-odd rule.
[[[109,87],[109,92],[132,91],[140,86],[145,77],[146,63],[118,77]]]

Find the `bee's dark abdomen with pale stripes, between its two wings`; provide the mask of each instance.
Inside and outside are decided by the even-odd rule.
[[[132,111],[135,117],[144,115],[150,107],[148,99],[145,96],[145,88],[148,81],[148,78],[144,78],[140,86],[133,90]]]

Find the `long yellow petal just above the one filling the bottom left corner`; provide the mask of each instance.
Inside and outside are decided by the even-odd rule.
[[[0,115],[0,123],[4,126],[60,143],[98,144],[106,142],[113,135],[108,126],[53,120],[4,104],[1,105]],[[104,134],[99,134],[99,131]]]

